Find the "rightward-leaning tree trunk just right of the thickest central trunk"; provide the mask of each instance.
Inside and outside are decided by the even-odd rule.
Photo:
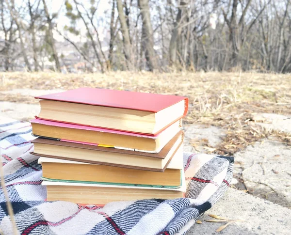
[[[182,18],[182,8],[185,6],[187,2],[185,0],[181,0],[180,5],[178,7],[178,14],[176,17],[176,22],[174,25],[174,30],[172,32],[170,46],[169,46],[169,60],[170,66],[175,64],[176,62],[176,55],[177,55],[177,39],[181,35],[181,18]]]

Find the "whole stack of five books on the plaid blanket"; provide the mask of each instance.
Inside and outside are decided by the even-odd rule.
[[[48,201],[183,197],[186,97],[80,88],[35,98],[41,110],[31,121],[32,154]]]

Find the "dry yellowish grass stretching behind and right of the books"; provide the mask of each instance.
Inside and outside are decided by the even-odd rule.
[[[291,75],[258,73],[130,73],[57,74],[0,73],[0,91],[16,88],[73,89],[99,87],[189,97],[184,124],[215,125],[226,129],[220,146],[210,152],[233,154],[261,138],[275,136],[291,145],[291,136],[256,125],[256,113],[291,117]],[[30,97],[2,95],[0,100],[33,103]]]

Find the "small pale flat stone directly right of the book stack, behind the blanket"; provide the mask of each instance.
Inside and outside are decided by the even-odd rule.
[[[206,153],[209,149],[205,148],[205,144],[215,147],[222,141],[225,136],[225,131],[222,128],[216,126],[205,125],[184,125],[184,152],[200,152]],[[190,142],[197,142],[194,147]]]

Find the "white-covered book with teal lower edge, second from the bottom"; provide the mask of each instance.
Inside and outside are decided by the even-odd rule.
[[[48,181],[154,188],[181,187],[181,171],[183,171],[181,147],[164,172],[143,171],[49,157],[40,157],[38,163],[42,165],[43,179]]]

